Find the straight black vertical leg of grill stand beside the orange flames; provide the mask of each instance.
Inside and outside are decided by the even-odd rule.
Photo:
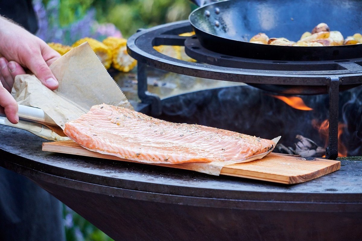
[[[328,147],[325,150],[328,159],[336,159],[338,156],[338,102],[339,102],[340,78],[329,79],[329,137]]]

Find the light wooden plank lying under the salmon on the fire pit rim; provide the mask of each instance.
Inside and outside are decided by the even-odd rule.
[[[53,151],[66,154],[105,158],[111,160],[122,160],[117,156],[105,155],[89,151],[73,141],[46,142],[43,143],[43,151]],[[138,162],[136,162],[138,163]],[[182,164],[152,164],[164,167],[187,169]],[[315,158],[305,160],[298,156],[271,153],[260,160],[253,162],[227,165],[222,168],[221,175],[245,177],[257,180],[278,182],[283,184],[295,184],[312,180],[340,169],[340,162],[334,160]]]

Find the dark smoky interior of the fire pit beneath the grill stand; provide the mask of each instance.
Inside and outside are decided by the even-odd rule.
[[[312,111],[294,109],[273,93],[251,86],[224,87],[178,95],[162,100],[160,119],[200,124],[272,139],[282,136],[280,143],[295,147],[297,135],[324,147],[325,140],[313,128],[312,120],[328,119],[328,95],[300,96]],[[362,88],[340,93],[340,122],[346,124],[342,142],[348,155],[361,155]]]

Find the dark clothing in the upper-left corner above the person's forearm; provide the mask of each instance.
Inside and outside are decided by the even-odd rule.
[[[0,15],[10,18],[30,33],[38,30],[38,22],[31,0],[0,0]]]

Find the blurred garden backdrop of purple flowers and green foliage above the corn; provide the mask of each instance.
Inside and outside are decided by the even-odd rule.
[[[33,0],[33,5],[36,35],[64,45],[84,37],[128,38],[139,28],[187,19],[195,8],[186,0]]]

